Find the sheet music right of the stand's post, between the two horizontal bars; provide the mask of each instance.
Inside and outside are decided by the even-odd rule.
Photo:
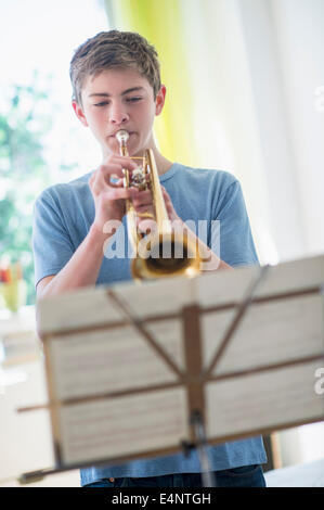
[[[235,310],[203,317],[204,365]],[[316,355],[324,350],[324,305],[320,294],[255,304],[247,310],[213,374]]]

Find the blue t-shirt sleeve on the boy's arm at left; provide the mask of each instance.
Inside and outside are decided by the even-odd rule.
[[[56,275],[74,253],[60,206],[47,191],[34,207],[33,252],[35,285],[42,278]]]

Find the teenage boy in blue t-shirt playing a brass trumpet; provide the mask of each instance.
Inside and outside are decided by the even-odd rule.
[[[249,220],[238,181],[229,173],[185,167],[168,161],[157,149],[153,123],[163,111],[166,87],[160,82],[155,49],[139,34],[104,31],[87,40],[70,63],[73,107],[102,150],[94,171],[67,184],[44,190],[36,202],[34,253],[37,296],[44,297],[86,285],[130,279],[130,260],[104,256],[113,233],[111,220],[125,226],[125,199],[139,212],[152,211],[151,193],[122,186],[122,168],[137,165],[119,155],[116,132],[129,133],[130,156],[152,149],[171,221],[207,220],[207,245],[199,240],[210,267],[257,264]],[[111,181],[111,178],[115,179]],[[116,176],[118,179],[116,180]],[[210,250],[212,220],[220,222],[220,253]],[[189,231],[189,230],[187,230]],[[195,234],[190,231],[190,235]],[[195,238],[196,239],[196,238]],[[252,437],[210,446],[218,486],[264,486],[261,463],[267,461],[262,438]],[[83,486],[200,486],[195,451],[141,459],[81,470]]]

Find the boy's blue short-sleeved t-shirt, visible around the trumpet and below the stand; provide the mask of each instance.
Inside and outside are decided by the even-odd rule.
[[[38,197],[33,232],[36,284],[42,278],[57,273],[89,232],[94,219],[94,203],[88,184],[90,176],[87,174],[69,183],[52,186]],[[204,241],[212,250],[217,246],[217,255],[222,260],[232,267],[258,264],[242,189],[235,177],[226,171],[190,168],[174,163],[160,176],[160,182],[182,220],[193,221],[197,226],[199,220],[207,220],[207,229],[202,230],[206,233]],[[122,221],[125,225],[125,218]],[[215,229],[215,225],[218,228]],[[215,232],[218,232],[216,243]],[[96,284],[131,279],[127,248],[125,254],[124,258],[103,258]],[[215,471],[267,462],[261,436],[208,448]],[[82,469],[81,485],[104,477],[159,476],[199,471],[198,457],[193,450],[187,457],[177,454],[115,467]]]

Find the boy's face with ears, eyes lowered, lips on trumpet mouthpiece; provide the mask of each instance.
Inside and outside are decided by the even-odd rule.
[[[130,135],[129,154],[138,155],[154,145],[154,117],[163,110],[165,94],[163,86],[154,100],[153,88],[137,71],[108,69],[88,78],[81,92],[82,106],[76,102],[73,106],[81,123],[90,127],[104,156],[119,154],[115,136],[119,129]]]

